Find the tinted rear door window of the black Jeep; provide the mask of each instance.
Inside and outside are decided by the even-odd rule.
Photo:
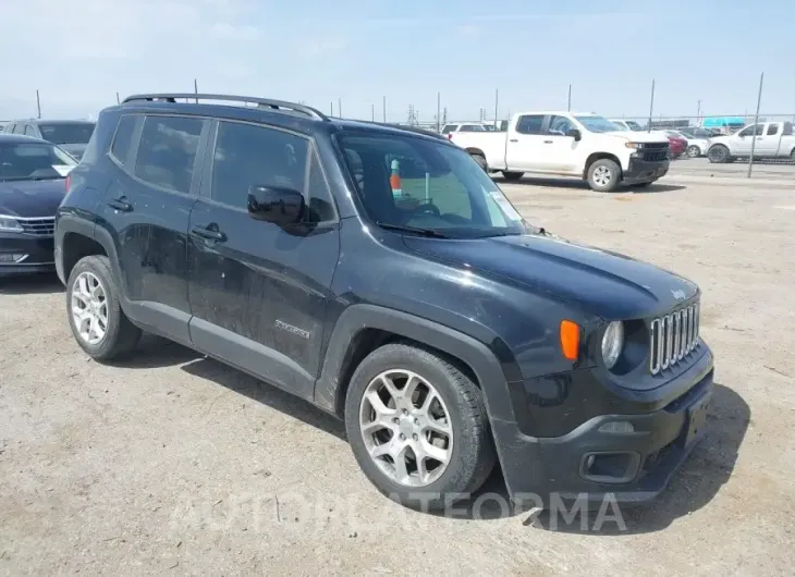
[[[189,193],[204,122],[181,116],[147,116],[135,175],[161,188]]]

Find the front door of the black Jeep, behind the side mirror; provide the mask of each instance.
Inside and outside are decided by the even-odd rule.
[[[201,196],[191,212],[194,346],[311,398],[320,369],[340,223],[313,142],[277,127],[213,126]],[[282,229],[248,216],[253,185],[304,194],[304,221]]]

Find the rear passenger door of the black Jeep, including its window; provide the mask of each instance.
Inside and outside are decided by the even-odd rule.
[[[100,208],[99,225],[118,254],[125,312],[185,344],[187,226],[209,126],[192,116],[121,116],[109,154],[115,170]]]

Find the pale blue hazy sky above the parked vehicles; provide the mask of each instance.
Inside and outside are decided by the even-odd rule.
[[[264,96],[346,118],[795,114],[785,0],[0,0],[0,120],[131,94]],[[10,57],[10,58],[9,58]]]

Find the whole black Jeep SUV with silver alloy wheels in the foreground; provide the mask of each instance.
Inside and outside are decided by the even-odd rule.
[[[496,463],[514,499],[647,500],[705,431],[698,286],[531,226],[440,135],[130,97],[71,174],[56,255],[87,355],[148,331],[280,386],[406,505]]]

